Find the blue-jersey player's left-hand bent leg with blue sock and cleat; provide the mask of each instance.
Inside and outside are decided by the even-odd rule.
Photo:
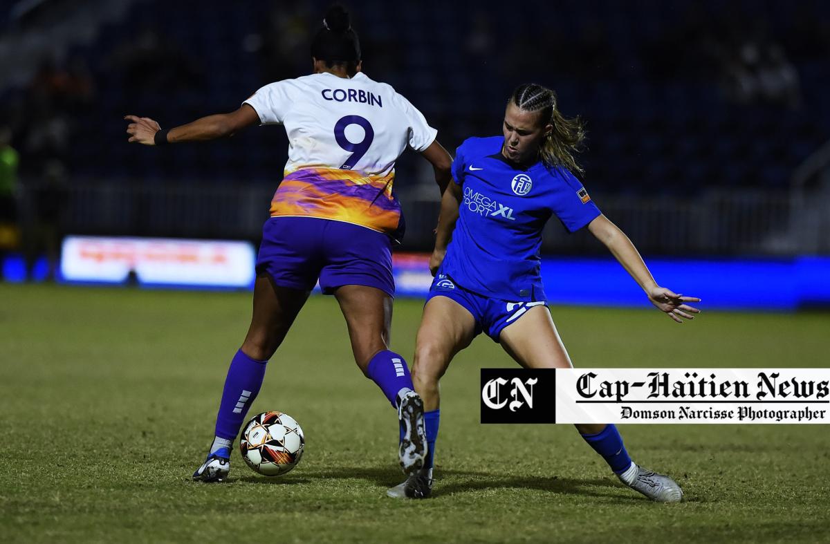
[[[432,454],[441,405],[438,381],[447,372],[452,357],[469,346],[475,336],[476,322],[461,304],[441,296],[427,302],[415,342],[413,383],[424,401],[430,444],[424,468],[389,489],[389,497],[428,498],[432,494]]]

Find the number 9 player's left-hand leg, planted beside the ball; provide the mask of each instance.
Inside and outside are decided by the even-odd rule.
[[[239,426],[259,391],[265,364],[286,338],[297,313],[308,299],[309,291],[288,289],[273,284],[271,277],[262,274],[254,283],[253,315],[245,341],[231,362],[217,415],[217,436],[211,444],[205,462],[193,473],[193,479],[202,482],[222,482],[231,469],[231,446]],[[247,372],[247,374],[246,374]],[[251,389],[229,386],[239,375],[254,384]],[[252,377],[249,377],[252,376]],[[239,405],[242,406],[239,406]],[[231,417],[227,417],[230,415]],[[237,425],[238,423],[238,425]],[[224,430],[219,430],[220,427]],[[220,435],[222,433],[222,435]]]

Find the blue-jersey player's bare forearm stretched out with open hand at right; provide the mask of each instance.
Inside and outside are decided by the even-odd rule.
[[[695,313],[701,313],[701,310],[686,304],[687,302],[700,302],[701,299],[676,294],[671,289],[657,285],[632,241],[628,239],[628,236],[625,236],[625,233],[618,226],[608,221],[608,217],[598,216],[588,223],[588,231],[591,231],[593,236],[596,236],[599,241],[608,247],[608,250],[623,265],[628,274],[631,274],[632,278],[646,292],[652,304],[670,318],[677,323],[683,323],[683,319],[694,319]]]

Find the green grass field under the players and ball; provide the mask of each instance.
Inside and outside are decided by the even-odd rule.
[[[705,308],[705,306],[703,306]],[[830,314],[552,308],[583,367],[827,367]],[[396,303],[410,356],[421,303]],[[264,478],[203,459],[250,294],[0,284],[2,542],[734,542],[828,540],[830,435],[813,425],[626,425],[632,457],[686,502],[623,488],[567,425],[479,425],[478,338],[442,381],[435,498],[397,502],[393,410],[354,366],[330,298],[310,299],[251,414],[305,430]]]

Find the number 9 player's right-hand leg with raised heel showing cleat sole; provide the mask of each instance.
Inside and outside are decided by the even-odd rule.
[[[334,296],[346,318],[354,362],[398,410],[398,462],[405,474],[414,474],[427,456],[423,401],[414,391],[406,361],[388,348],[392,297],[364,285],[344,285],[334,291]]]

